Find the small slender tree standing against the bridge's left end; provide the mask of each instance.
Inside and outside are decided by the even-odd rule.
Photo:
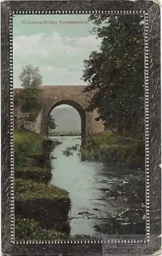
[[[26,114],[25,120],[35,121],[42,103],[39,88],[42,84],[42,76],[39,68],[32,65],[23,67],[19,79],[23,87],[20,94],[21,111]]]

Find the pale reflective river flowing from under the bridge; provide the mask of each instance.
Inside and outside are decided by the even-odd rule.
[[[73,156],[63,155],[67,146],[80,145],[80,137],[49,138],[63,142],[51,152],[56,157],[52,160],[51,183],[69,191],[72,201],[69,213],[70,234],[113,233],[115,227],[112,227],[110,216],[115,217],[119,210],[133,207],[134,202],[115,200],[111,190],[116,185],[122,187],[127,182],[130,185],[139,182],[145,179],[144,174],[112,162],[81,161],[76,151]],[[117,233],[126,231],[116,230]],[[136,229],[129,233],[136,233]]]

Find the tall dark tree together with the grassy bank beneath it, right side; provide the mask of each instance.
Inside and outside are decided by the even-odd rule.
[[[94,92],[87,111],[97,108],[96,121],[108,133],[93,136],[81,149],[89,159],[113,160],[144,167],[144,54],[143,17],[92,14],[93,33],[100,50],[84,61],[85,92]]]

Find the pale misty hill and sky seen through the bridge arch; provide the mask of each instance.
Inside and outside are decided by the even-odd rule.
[[[55,108],[50,113],[56,120],[57,127],[55,132],[59,133],[80,133],[81,131],[81,121],[78,112],[71,106],[66,106],[61,108]]]

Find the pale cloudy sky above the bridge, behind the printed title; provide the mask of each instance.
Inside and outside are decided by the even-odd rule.
[[[20,87],[21,68],[31,64],[40,67],[43,85],[86,85],[80,80],[83,60],[99,49],[100,41],[90,33],[94,27],[89,15],[15,15],[13,17],[14,88]],[[44,24],[52,20],[55,25]],[[87,24],[61,24],[60,21],[83,20]],[[22,24],[42,21],[43,24]]]

